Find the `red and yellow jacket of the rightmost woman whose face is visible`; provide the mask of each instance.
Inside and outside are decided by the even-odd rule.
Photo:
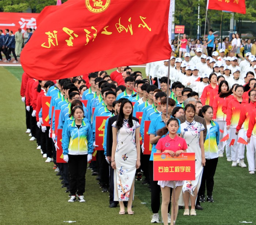
[[[239,131],[244,123],[244,130],[248,130],[249,119],[252,116],[253,110],[255,110],[256,103],[245,104],[241,108],[240,118],[237,125],[237,131]]]

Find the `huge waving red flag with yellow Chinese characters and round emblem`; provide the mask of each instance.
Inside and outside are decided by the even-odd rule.
[[[39,80],[78,76],[171,55],[172,0],[68,0],[45,7],[24,47],[24,71]]]

